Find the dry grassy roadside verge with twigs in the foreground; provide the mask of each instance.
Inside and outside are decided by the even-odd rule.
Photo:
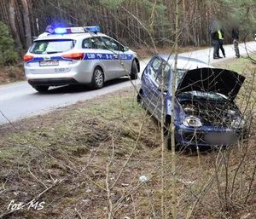
[[[0,126],[0,215],[12,199],[27,203],[48,187],[39,198],[43,210],[25,207],[5,218],[107,218],[108,182],[114,218],[159,218],[160,130],[149,116],[126,89]],[[192,218],[255,218],[255,155],[254,136],[243,147],[179,153],[179,217],[197,203]],[[170,158],[166,151],[166,218],[172,218]]]

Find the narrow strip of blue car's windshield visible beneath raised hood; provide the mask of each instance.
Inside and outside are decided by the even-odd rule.
[[[189,99],[207,100],[207,101],[227,101],[225,95],[217,92],[204,92],[199,90],[186,91],[181,93],[181,97],[189,97]]]

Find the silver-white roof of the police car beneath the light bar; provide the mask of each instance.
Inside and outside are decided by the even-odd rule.
[[[46,37],[39,37],[35,39],[34,41],[40,41],[40,40],[55,40],[55,39],[84,39],[87,37],[108,37],[106,34],[103,34],[101,32],[82,32],[82,33],[66,33],[66,34],[49,34]]]

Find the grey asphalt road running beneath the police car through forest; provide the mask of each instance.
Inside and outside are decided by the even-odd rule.
[[[235,58],[235,51],[232,45],[225,45],[224,49],[226,52],[226,58],[219,60],[212,59],[212,48],[196,50],[189,53],[183,53],[181,55],[196,58],[209,64]],[[246,45],[241,43],[240,52],[242,56],[246,56],[247,53],[256,54],[256,42],[250,42]],[[148,60],[141,61],[140,63],[141,69],[143,70],[148,63]],[[134,84],[140,83],[139,79],[132,82]],[[58,107],[65,107],[77,101],[90,100],[97,96],[105,95],[109,92],[130,86],[131,81],[129,81],[129,79],[119,78],[108,82],[102,89],[91,90],[85,86],[65,86],[50,89],[47,94],[39,94],[26,82],[1,85],[0,124],[7,124],[9,121],[14,122],[20,118],[49,112]]]

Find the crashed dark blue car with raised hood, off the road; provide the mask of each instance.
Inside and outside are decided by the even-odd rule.
[[[234,99],[245,77],[205,62],[177,56],[177,80],[172,94],[174,56],[155,55],[146,66],[137,101],[160,122],[161,90],[167,147],[171,149],[171,108],[177,145],[216,147],[234,144],[244,134],[245,120]]]

